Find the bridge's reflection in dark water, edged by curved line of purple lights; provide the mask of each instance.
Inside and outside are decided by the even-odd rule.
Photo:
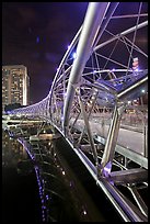
[[[66,159],[58,153],[55,143],[32,142],[20,138],[34,161],[43,221],[103,221],[104,217],[80,183]],[[61,147],[66,149],[65,144]]]

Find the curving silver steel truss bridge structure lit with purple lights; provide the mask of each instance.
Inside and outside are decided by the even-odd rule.
[[[126,14],[129,3],[90,2],[49,94],[36,104],[11,111],[11,115],[39,116],[50,123],[123,220],[140,222],[148,219],[147,205],[138,193],[138,183],[147,187],[147,107],[132,102],[148,92],[147,47],[138,45],[139,40],[147,43],[148,14],[143,11],[146,2],[135,2],[134,12]],[[119,14],[123,8],[124,14]],[[135,58],[141,61],[140,68],[132,67]],[[93,127],[95,120],[101,134]],[[124,138],[120,130],[128,124],[142,135],[140,153],[128,148],[129,139],[123,144],[118,138]],[[130,167],[132,161],[138,167]],[[119,170],[114,171],[113,166]],[[137,206],[119,192],[120,184],[129,189]]]

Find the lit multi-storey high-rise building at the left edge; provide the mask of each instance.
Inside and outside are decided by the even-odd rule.
[[[2,66],[2,110],[12,103],[27,105],[30,102],[30,77],[23,65]]]

